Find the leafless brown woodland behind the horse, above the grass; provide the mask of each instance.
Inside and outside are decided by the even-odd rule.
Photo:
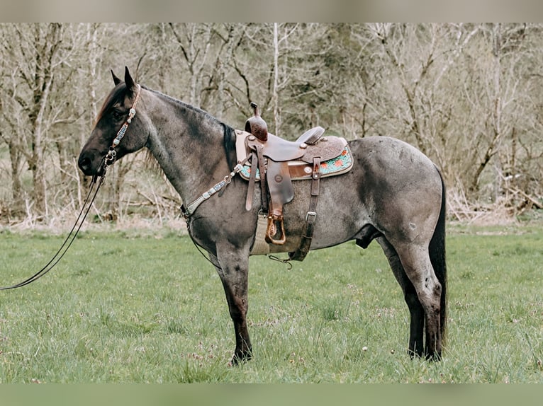
[[[254,101],[281,137],[408,141],[442,170],[451,219],[543,209],[541,24],[4,23],[0,38],[4,225],[79,210],[77,156],[124,66],[235,128]],[[111,168],[96,221],[179,218],[144,162]]]

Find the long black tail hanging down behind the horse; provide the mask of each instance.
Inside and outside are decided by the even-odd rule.
[[[437,169],[437,168],[436,168]],[[445,220],[446,220],[446,197],[447,193],[445,191],[445,184],[443,181],[443,176],[440,170],[437,170],[437,173],[440,174],[441,185],[442,185],[442,195],[441,195],[441,211],[440,218],[437,220],[437,225],[435,226],[434,235],[432,240],[430,240],[430,262],[432,262],[432,267],[434,268],[435,276],[441,284],[441,336],[442,342],[444,344],[447,333],[447,264],[445,262]]]

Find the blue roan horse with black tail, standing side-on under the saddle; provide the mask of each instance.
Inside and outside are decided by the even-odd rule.
[[[113,71],[94,129],[79,155],[84,175],[99,177],[116,159],[147,148],[179,193],[198,202],[186,217],[189,235],[208,253],[225,291],[235,332],[232,364],[252,358],[247,330],[249,257],[262,209],[245,207],[247,180],[233,170],[236,130],[208,112],[135,83]],[[137,112],[137,114],[136,114]],[[355,240],[367,248],[376,240],[403,291],[410,313],[408,354],[440,360],[446,333],[445,187],[437,166],[410,144],[384,136],[348,141],[349,172],[320,180],[311,250]],[[298,248],[310,202],[310,180],[292,182],[294,197],[284,206],[283,245]],[[222,185],[220,192],[214,194]],[[207,194],[207,195],[206,195]]]

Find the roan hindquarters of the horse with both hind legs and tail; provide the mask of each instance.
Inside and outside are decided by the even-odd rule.
[[[402,141],[380,137],[358,146],[360,197],[410,311],[409,352],[439,358],[446,306],[442,178]]]

